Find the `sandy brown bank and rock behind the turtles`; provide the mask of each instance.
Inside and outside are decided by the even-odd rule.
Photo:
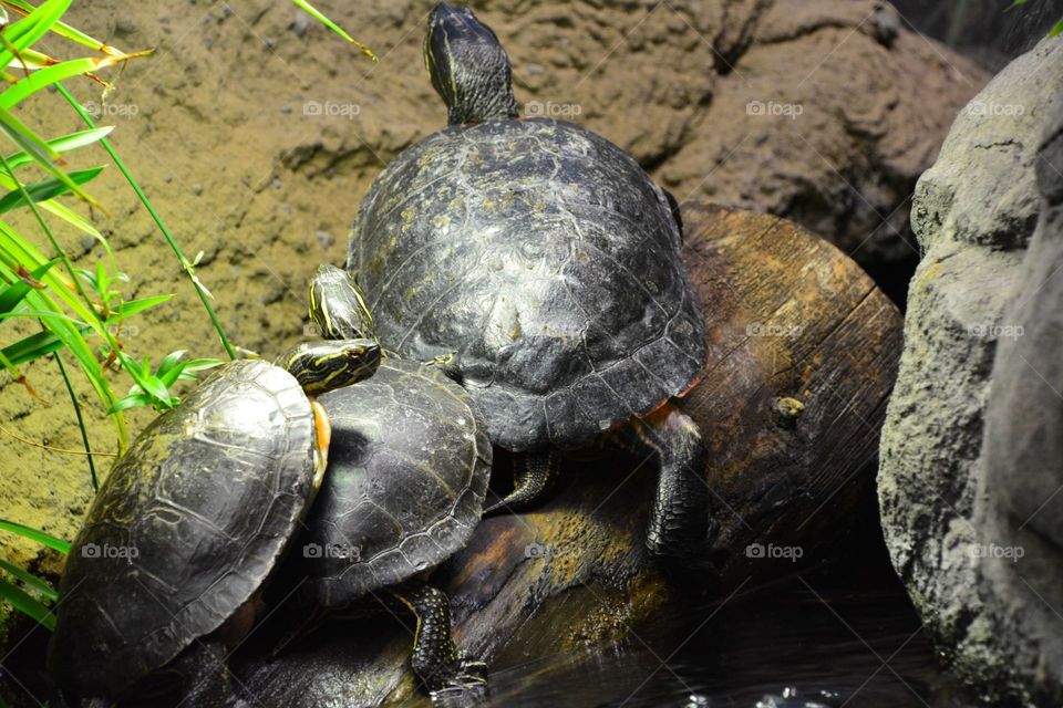
[[[380,55],[373,64],[287,0],[75,3],[68,21],[125,50],[155,48],[99,86],[69,82],[112,139],[189,257],[231,340],[274,356],[303,335],[306,287],[341,263],[373,177],[443,126],[424,75],[426,0],[320,2]],[[891,9],[854,0],[625,0],[473,3],[514,61],[528,114],[569,118],[630,150],[681,201],[705,199],[794,218],[865,264],[910,260],[907,200],[957,111],[984,83],[977,67],[899,30]],[[45,48],[70,55],[51,39]],[[20,111],[45,135],[80,129],[55,93]],[[83,150],[73,167],[103,164]],[[135,356],[186,348],[223,356],[161,233],[111,166],[92,215],[128,273],[128,298],[175,293],[128,322]],[[87,210],[85,210],[87,214]],[[23,222],[19,222],[20,225]],[[27,232],[30,227],[27,226]],[[79,264],[99,248],[65,225]],[[3,344],[18,325],[4,324]],[[0,421],[38,444],[80,437],[51,363],[28,366],[42,404],[0,382]],[[124,392],[127,377],[114,376]],[[94,447],[114,449],[75,372]],[[134,430],[149,419],[131,416]],[[0,435],[0,517],[73,538],[92,489],[84,459]],[[105,472],[107,460],[99,460]],[[2,539],[0,556],[41,570],[55,558]]]

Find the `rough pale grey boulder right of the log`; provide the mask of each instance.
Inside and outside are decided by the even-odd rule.
[[[1031,280],[1023,257],[1032,256],[1024,249],[1042,210],[1036,150],[1061,92],[1063,40],[1045,40],[960,113],[920,178],[912,225],[923,257],[909,293],[878,473],[887,546],[928,633],[957,674],[1001,705],[1026,700],[1031,678],[1044,670],[1032,669],[1032,636],[1000,612],[988,584],[991,563],[980,555],[984,543],[1000,540],[987,538],[992,524],[976,513],[976,502],[983,488],[995,507],[1012,486],[983,479],[985,409],[1000,395],[990,393],[998,342],[1022,326],[1009,308]],[[1023,406],[1042,410],[1030,400]],[[1054,473],[1040,472],[1034,485]],[[1025,663],[1016,664],[1012,653],[1022,645]]]

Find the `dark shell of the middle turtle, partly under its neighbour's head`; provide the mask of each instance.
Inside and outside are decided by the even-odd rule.
[[[384,360],[323,394],[329,467],[302,548],[312,600],[336,606],[443,562],[479,521],[491,441],[468,393],[436,367]]]

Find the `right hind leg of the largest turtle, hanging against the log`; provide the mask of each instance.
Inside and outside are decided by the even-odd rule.
[[[660,466],[646,545],[662,559],[690,558],[709,529],[708,455],[698,425],[674,403],[626,426],[636,449]]]

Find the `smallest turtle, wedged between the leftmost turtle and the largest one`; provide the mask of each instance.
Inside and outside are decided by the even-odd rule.
[[[326,337],[373,337],[364,299],[332,266],[311,283],[310,316]],[[430,691],[484,683],[483,664],[455,650],[450,601],[424,580],[483,512],[492,448],[468,393],[437,366],[388,356],[320,402],[332,451],[307,521],[305,593],[327,608],[395,600],[416,616],[412,664]]]

